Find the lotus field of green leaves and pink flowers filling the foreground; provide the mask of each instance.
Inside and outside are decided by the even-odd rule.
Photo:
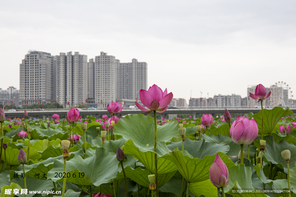
[[[139,94],[150,115],[118,118],[117,102],[99,119],[71,108],[52,121],[7,120],[1,109],[0,197],[296,196],[289,108],[157,119],[173,93],[153,85]],[[269,95],[259,84],[250,97],[262,106]]]

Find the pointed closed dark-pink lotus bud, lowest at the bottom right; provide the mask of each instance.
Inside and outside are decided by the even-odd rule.
[[[229,184],[228,169],[220,156],[216,154],[214,163],[210,167],[210,181],[217,188],[226,187]]]

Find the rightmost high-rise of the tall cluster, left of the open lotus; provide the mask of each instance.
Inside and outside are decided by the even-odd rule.
[[[130,63],[116,60],[116,99],[139,99],[139,91],[147,90],[147,63],[133,58]]]

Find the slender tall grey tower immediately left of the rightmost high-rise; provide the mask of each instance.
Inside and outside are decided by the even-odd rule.
[[[96,56],[94,64],[95,103],[98,103],[98,108],[106,108],[116,98],[115,56],[101,52],[100,56]]]

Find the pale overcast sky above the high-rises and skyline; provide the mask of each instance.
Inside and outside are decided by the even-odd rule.
[[[174,97],[238,94],[278,81],[296,91],[296,1],[2,1],[0,88],[19,88],[28,50],[148,64]],[[293,94],[293,93],[292,93]],[[294,98],[295,99],[295,98]]]

